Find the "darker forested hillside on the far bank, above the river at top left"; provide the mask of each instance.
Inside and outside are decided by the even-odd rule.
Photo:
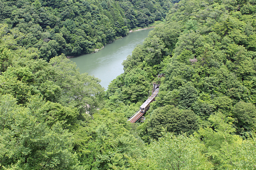
[[[40,58],[88,54],[136,27],[163,20],[170,0],[2,0],[0,23]]]

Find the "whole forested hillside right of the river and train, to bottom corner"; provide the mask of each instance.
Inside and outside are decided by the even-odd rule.
[[[134,169],[256,169],[256,1],[181,0],[123,66],[107,105],[127,117],[161,82]]]

